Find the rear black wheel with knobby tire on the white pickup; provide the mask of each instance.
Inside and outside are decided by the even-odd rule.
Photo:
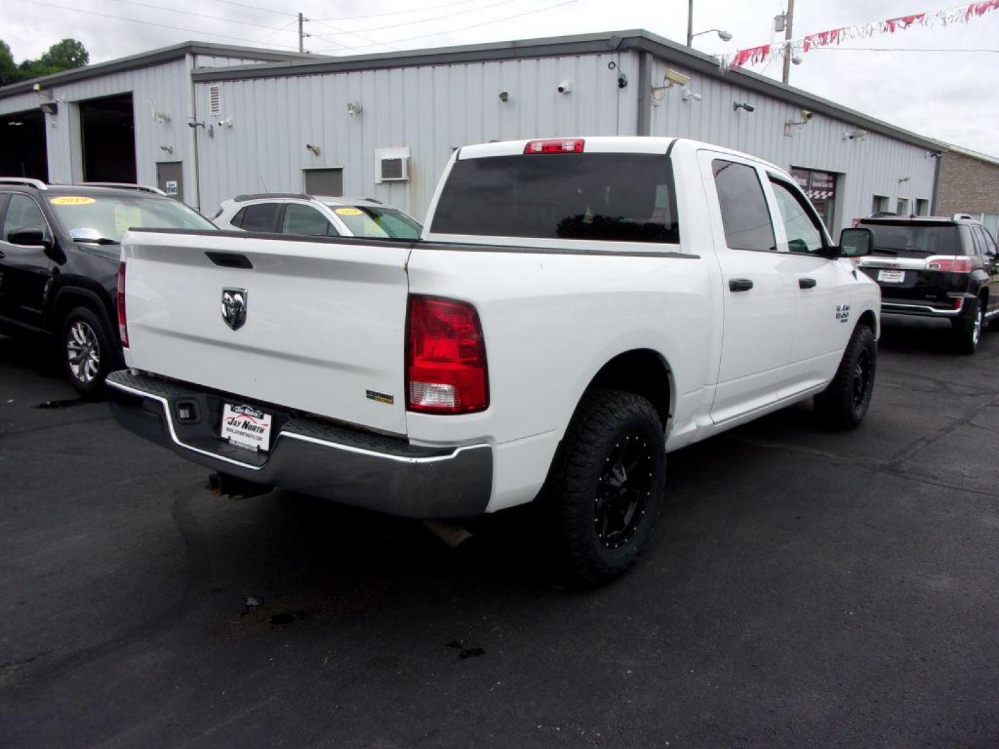
[[[621,445],[624,446],[621,446]],[[622,450],[637,455],[634,471],[619,462]],[[625,478],[610,488],[606,473],[618,460]],[[630,459],[628,464],[632,464]],[[613,389],[591,389],[576,406],[543,489],[545,514],[557,571],[577,586],[602,585],[624,572],[641,552],[655,524],[665,486],[665,437],[655,407],[645,398]],[[646,475],[647,474],[647,475]],[[612,481],[620,481],[614,474]],[[628,482],[631,488],[627,488]],[[617,491],[612,499],[604,499]],[[640,494],[644,493],[642,499]],[[631,496],[638,497],[632,500]],[[612,506],[640,501],[621,515],[621,533],[598,527]],[[598,517],[599,515],[599,517]],[[634,526],[626,518],[631,517]]]

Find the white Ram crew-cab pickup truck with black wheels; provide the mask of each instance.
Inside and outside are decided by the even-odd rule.
[[[537,498],[600,583],[647,540],[666,452],[813,395],[860,422],[870,242],[703,143],[469,146],[419,241],[130,232],[108,395],[229,480],[422,518]]]

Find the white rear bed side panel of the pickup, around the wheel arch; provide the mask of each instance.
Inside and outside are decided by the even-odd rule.
[[[492,443],[490,509],[499,509],[533,497],[583,391],[617,355],[657,353],[670,372],[672,401],[699,401],[712,381],[706,264],[714,260],[663,255],[674,256],[415,249],[412,294],[468,301],[479,312],[490,407],[463,416],[410,412],[410,439]]]

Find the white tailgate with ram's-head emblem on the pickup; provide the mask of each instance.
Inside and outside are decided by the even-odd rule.
[[[406,433],[406,245],[135,231],[122,247],[131,367]]]

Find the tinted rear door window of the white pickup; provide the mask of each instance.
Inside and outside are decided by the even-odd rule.
[[[711,171],[725,244],[732,250],[776,251],[770,211],[756,170],[746,164],[715,159]]]

